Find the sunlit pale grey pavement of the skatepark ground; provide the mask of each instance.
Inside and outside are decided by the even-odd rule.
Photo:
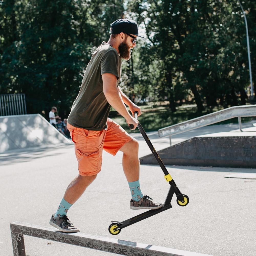
[[[234,130],[238,125],[207,126],[175,135],[177,141],[205,133]],[[205,130],[204,130],[205,129]],[[220,130],[219,130],[220,129]],[[139,156],[148,154],[140,134]],[[156,150],[169,146],[169,138],[148,133]],[[103,152],[102,171],[68,216],[81,232],[214,256],[255,256],[256,180],[225,178],[230,173],[256,173],[256,169],[167,166],[178,188],[189,196],[186,207],[172,199],[170,210],[135,223],[117,236],[108,232],[112,220],[123,221],[143,210],[130,209],[130,189],[122,171],[122,153]],[[11,256],[9,223],[21,221],[48,226],[69,182],[77,175],[73,145],[34,148],[0,154],[2,229],[0,255]],[[160,167],[141,165],[144,194],[164,202],[169,185]],[[116,255],[39,238],[25,237],[26,255]]]

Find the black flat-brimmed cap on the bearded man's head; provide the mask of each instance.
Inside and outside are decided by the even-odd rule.
[[[118,19],[111,24],[111,28],[111,34],[120,34],[121,32],[123,32],[124,34],[132,34],[142,38],[146,38],[139,35],[138,24],[130,19]]]

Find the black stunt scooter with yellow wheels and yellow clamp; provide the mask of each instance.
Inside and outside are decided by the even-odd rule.
[[[137,116],[138,116],[138,112],[136,111],[134,113],[135,119],[137,119]],[[132,124],[129,125],[129,127],[130,127],[131,130],[134,128],[134,126]],[[128,226],[130,226],[130,225],[132,225],[132,224],[134,224],[134,223],[136,223],[138,221],[144,220],[144,219],[146,219],[148,217],[151,217],[151,216],[153,216],[155,214],[158,214],[158,213],[160,213],[162,211],[165,211],[165,210],[168,210],[168,209],[172,208],[171,200],[173,198],[174,193],[177,196],[176,201],[177,201],[177,204],[179,206],[186,206],[188,204],[188,202],[189,202],[188,196],[183,195],[179,191],[177,185],[175,184],[175,182],[172,179],[171,175],[168,173],[167,169],[165,168],[163,161],[161,160],[161,158],[159,157],[159,155],[156,152],[155,148],[153,147],[152,143],[150,142],[149,138],[147,137],[146,132],[144,131],[144,129],[141,126],[141,124],[139,123],[137,127],[140,130],[143,138],[145,139],[145,141],[146,141],[147,145],[149,146],[151,152],[153,153],[154,157],[156,158],[156,161],[158,162],[158,164],[160,165],[161,169],[163,170],[163,172],[165,174],[164,178],[170,184],[170,188],[169,188],[169,192],[167,194],[167,197],[165,199],[165,202],[164,202],[164,205],[163,205],[162,208],[159,208],[159,209],[156,209],[156,210],[146,211],[146,212],[144,212],[142,214],[139,214],[139,215],[137,215],[137,216],[135,216],[133,218],[130,218],[128,220],[124,220],[122,222],[119,222],[119,221],[116,221],[116,220],[111,221],[112,224],[110,224],[110,226],[109,226],[109,232],[112,235],[119,234],[121,229],[123,229],[125,227],[128,227]]]

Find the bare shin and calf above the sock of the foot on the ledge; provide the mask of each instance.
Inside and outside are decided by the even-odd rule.
[[[93,182],[96,176],[97,174],[93,176],[78,175],[68,185],[64,194],[64,199],[69,202],[69,204],[74,204],[74,202],[76,202],[77,199],[84,193],[86,188]]]

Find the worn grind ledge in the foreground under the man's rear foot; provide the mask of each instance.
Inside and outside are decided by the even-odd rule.
[[[150,244],[136,243],[83,233],[62,233],[52,227],[42,227],[23,222],[10,223],[14,256],[25,256],[23,235],[56,242],[73,244],[95,250],[130,256],[210,256]]]

